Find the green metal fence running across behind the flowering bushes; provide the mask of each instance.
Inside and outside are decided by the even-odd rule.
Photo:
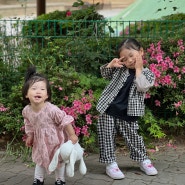
[[[135,37],[140,39],[185,37],[181,21],[67,21],[0,20],[0,60],[17,65],[21,47],[38,46],[38,55],[48,40],[80,38],[102,40]],[[97,41],[97,45],[99,42]],[[107,48],[114,49],[107,42]],[[88,46],[90,47],[90,46]],[[93,46],[95,47],[95,46]],[[100,46],[98,45],[97,48]]]

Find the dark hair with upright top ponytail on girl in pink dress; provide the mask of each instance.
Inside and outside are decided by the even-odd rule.
[[[51,87],[50,87],[49,81],[44,75],[36,72],[35,66],[31,66],[28,68],[24,79],[25,79],[25,82],[24,82],[24,85],[22,88],[22,96],[23,96],[23,101],[25,103],[27,103],[27,104],[30,103],[29,99],[26,98],[26,95],[28,93],[28,89],[35,82],[39,82],[39,81],[46,82],[46,88],[47,88],[47,94],[48,94],[47,101],[51,101]]]

